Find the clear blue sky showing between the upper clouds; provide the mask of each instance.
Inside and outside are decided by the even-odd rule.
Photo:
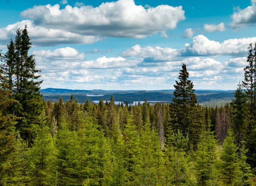
[[[24,20],[20,17],[20,12],[25,9],[32,8],[35,5],[46,5],[46,4],[57,4],[60,0],[1,0],[0,6],[0,27],[5,27],[8,24],[16,23],[17,21]],[[76,2],[82,2],[85,5],[93,7],[99,6],[103,2],[110,2],[110,0],[68,0],[70,6],[74,6]],[[192,38],[180,38],[181,34],[187,28],[198,29],[195,35],[203,34],[210,40],[222,42],[230,38],[244,38],[253,37],[255,28],[247,28],[233,32],[228,28],[228,24],[232,21],[230,15],[233,13],[233,7],[240,6],[244,9],[250,6],[250,0],[135,0],[137,5],[155,7],[161,4],[167,4],[170,6],[183,6],[185,11],[186,20],[181,21],[177,24],[177,28],[169,30],[167,34],[169,38],[160,37],[160,34],[148,36],[145,39],[134,39],[134,38],[108,38],[107,41],[99,41],[95,44],[86,45],[61,45],[53,47],[37,47],[35,49],[56,49],[60,47],[70,46],[74,47],[79,52],[86,52],[98,48],[100,51],[106,51],[108,48],[113,49],[113,52],[105,54],[107,57],[118,56],[119,53],[124,50],[140,44],[141,46],[160,46],[160,47],[172,47],[182,48],[185,43],[190,43]],[[66,5],[61,5],[61,9]],[[208,24],[219,24],[225,23],[227,31],[225,32],[202,32],[205,23]],[[195,36],[194,35],[194,36]],[[92,60],[98,57],[102,57],[102,54],[86,54],[87,60]]]

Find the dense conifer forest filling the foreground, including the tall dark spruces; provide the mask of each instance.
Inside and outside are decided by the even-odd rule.
[[[256,184],[256,44],[220,108],[198,104],[186,64],[168,104],[45,102],[31,45],[25,26],[1,55],[0,185]]]

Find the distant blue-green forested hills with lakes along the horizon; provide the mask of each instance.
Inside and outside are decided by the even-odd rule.
[[[87,98],[90,101],[100,100],[102,97],[104,100],[109,100],[111,94],[117,102],[126,102],[132,104],[138,100],[144,101],[165,101],[171,102],[173,99],[174,90],[70,90],[70,89],[57,89],[47,88],[42,89],[41,93],[44,95],[46,101],[51,102],[58,101],[60,96],[62,99],[70,99],[70,95],[73,94],[74,98],[79,103],[86,102]],[[234,90],[195,90],[198,102],[201,105],[225,105],[227,102],[231,102],[234,98]],[[104,96],[102,96],[104,95]]]

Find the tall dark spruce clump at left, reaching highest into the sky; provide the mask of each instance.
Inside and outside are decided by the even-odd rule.
[[[9,74],[9,84],[12,87],[13,97],[19,101],[10,105],[9,113],[21,117],[16,125],[23,138],[31,139],[36,135],[38,116],[42,112],[43,99],[39,92],[42,81],[36,81],[41,76],[36,75],[39,70],[35,69],[34,55],[29,55],[31,48],[27,27],[17,29],[13,51],[12,41],[9,45],[9,57],[6,58],[5,74]],[[13,54],[14,53],[14,54]],[[7,56],[6,56],[7,57]],[[14,59],[12,58],[14,57]],[[14,61],[12,61],[14,60]],[[12,81],[10,75],[12,76]]]

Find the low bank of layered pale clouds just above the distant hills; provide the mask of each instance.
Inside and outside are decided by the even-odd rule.
[[[172,48],[143,48],[139,45],[136,47],[137,49],[129,51],[130,53],[125,51],[126,57],[102,57],[90,61],[82,59],[83,53],[68,47],[53,51],[34,51],[33,54],[37,68],[42,70],[40,74],[44,79],[43,87],[62,85],[72,88],[83,84],[84,89],[86,86],[100,86],[104,89],[109,86],[115,89],[125,89],[124,86],[133,89],[163,89],[164,86],[172,89],[182,62],[185,62],[196,88],[214,88],[218,85],[220,88],[232,89],[232,86],[236,86],[238,78],[243,76],[243,67],[247,65],[246,57],[219,61],[209,57],[181,57],[177,55],[177,50]],[[172,52],[175,52],[177,57],[173,61],[145,63],[148,56],[168,56]],[[144,83],[140,84],[142,82]]]

